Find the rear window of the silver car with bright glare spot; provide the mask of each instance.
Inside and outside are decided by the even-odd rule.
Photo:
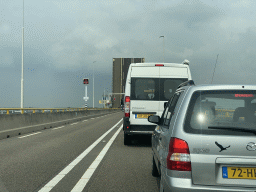
[[[256,91],[196,91],[190,100],[184,129],[195,134],[252,135],[246,131],[256,131],[255,112]]]

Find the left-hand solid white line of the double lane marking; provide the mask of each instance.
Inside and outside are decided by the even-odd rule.
[[[81,153],[75,160],[73,160],[67,167],[65,167],[58,175],[56,175],[51,181],[49,181],[42,189],[38,192],[49,192],[57,185],[57,183],[65,177],[69,171],[71,171],[110,131],[112,131],[123,119],[118,121],[113,127],[111,127],[106,133],[104,133],[99,139],[91,144],[83,153]]]

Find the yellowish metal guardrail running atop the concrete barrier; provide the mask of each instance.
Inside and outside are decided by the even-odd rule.
[[[0,108],[0,114],[53,113],[66,111],[113,110],[118,108]]]

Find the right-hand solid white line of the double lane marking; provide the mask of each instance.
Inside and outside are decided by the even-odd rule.
[[[81,179],[77,182],[75,187],[71,190],[71,192],[81,192],[83,191],[84,187],[90,180],[91,176],[93,175],[94,171],[97,169],[98,165],[102,161],[103,157],[106,155],[107,151],[109,150],[110,146],[116,139],[118,133],[122,129],[122,125],[119,127],[119,129],[116,131],[116,133],[111,137],[109,142],[105,145],[105,147],[101,150],[100,154],[97,156],[97,158],[92,162],[90,167],[86,170],[84,175],[81,177]]]

